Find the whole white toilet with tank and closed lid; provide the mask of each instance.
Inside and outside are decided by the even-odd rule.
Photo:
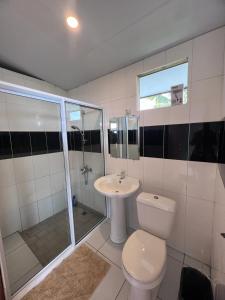
[[[141,229],[126,241],[122,269],[130,284],[129,300],[155,300],[166,272],[166,240],[175,216],[172,199],[141,193],[137,197]]]

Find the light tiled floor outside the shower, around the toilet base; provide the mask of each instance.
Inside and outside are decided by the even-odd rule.
[[[123,245],[115,245],[111,242],[110,223],[103,223],[93,231],[87,240],[87,245],[97,254],[101,255],[110,264],[111,268],[105,278],[95,290],[91,299],[93,300],[127,300],[129,285],[121,270],[121,254]],[[210,275],[208,266],[185,256],[183,253],[168,247],[167,272],[161,284],[158,300],[177,300],[180,274],[183,266],[192,266],[206,275]]]

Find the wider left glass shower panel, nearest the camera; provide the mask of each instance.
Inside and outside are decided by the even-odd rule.
[[[60,104],[0,93],[0,239],[14,294],[70,244]]]

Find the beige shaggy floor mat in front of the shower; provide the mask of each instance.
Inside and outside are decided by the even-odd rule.
[[[82,245],[23,300],[89,299],[109,268],[105,260]]]

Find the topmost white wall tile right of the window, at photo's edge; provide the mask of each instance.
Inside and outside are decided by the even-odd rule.
[[[193,42],[192,80],[200,80],[223,74],[225,28],[206,33]]]

